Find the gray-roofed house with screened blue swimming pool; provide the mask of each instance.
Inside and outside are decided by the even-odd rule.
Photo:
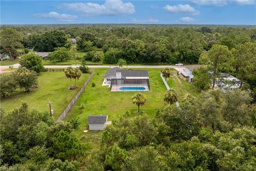
[[[102,85],[108,85],[111,92],[149,91],[150,89],[147,70],[125,70],[119,67],[107,70]]]

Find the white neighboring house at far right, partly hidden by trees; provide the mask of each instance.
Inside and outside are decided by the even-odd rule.
[[[232,89],[239,88],[240,80],[225,72],[220,73],[220,77],[216,78],[215,88],[219,87],[222,92],[227,92]]]

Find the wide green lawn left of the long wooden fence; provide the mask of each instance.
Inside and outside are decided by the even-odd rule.
[[[29,93],[18,89],[17,92],[1,99],[1,107],[6,111],[11,111],[14,108],[20,107],[22,102],[27,102],[30,108],[35,108],[39,111],[49,111],[47,104],[52,102],[53,116],[58,118],[81,89],[81,85],[87,77],[89,77],[89,74],[83,74],[77,82],[78,88],[70,90],[68,89],[69,79],[65,77],[63,72],[42,72],[38,77],[39,88],[33,89]],[[72,80],[72,83],[75,84],[75,81]]]

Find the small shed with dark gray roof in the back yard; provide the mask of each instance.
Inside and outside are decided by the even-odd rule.
[[[91,115],[87,117],[89,130],[104,130],[107,125],[107,115]]]

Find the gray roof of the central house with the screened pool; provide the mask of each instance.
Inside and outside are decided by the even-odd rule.
[[[116,72],[121,72],[122,78],[124,77],[148,77],[148,71],[147,70],[124,70],[119,67],[114,67],[109,70],[107,70],[105,74],[106,77],[115,76]]]

